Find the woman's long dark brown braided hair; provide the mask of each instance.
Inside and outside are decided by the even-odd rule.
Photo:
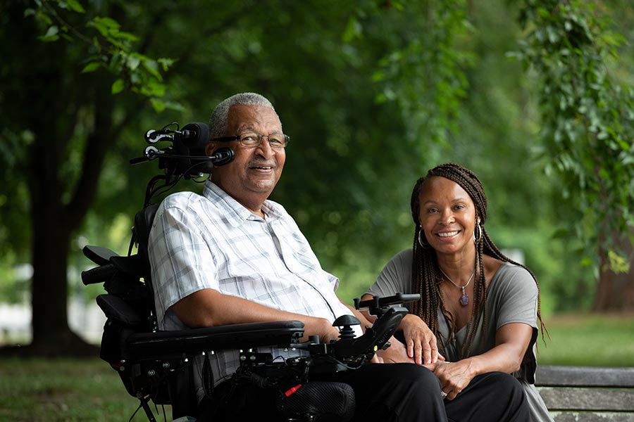
[[[463,188],[473,200],[473,205],[475,205],[475,215],[476,217],[480,217],[480,230],[482,233],[481,238],[475,244],[475,254],[478,265],[478,278],[474,281],[473,286],[473,311],[471,313],[471,318],[467,324],[467,337],[462,345],[461,350],[461,359],[464,357],[468,357],[469,352],[471,350],[471,345],[473,343],[473,339],[475,338],[475,333],[478,331],[478,325],[480,324],[480,317],[483,318],[483,327],[486,329],[487,324],[487,316],[485,312],[485,302],[486,302],[486,283],[485,283],[485,271],[483,264],[483,254],[489,255],[491,257],[496,258],[497,260],[503,262],[511,262],[511,264],[518,265],[526,269],[533,279],[535,279],[535,284],[537,285],[537,318],[540,321],[540,326],[542,328],[542,338],[545,332],[545,325],[542,321],[541,316],[541,302],[539,296],[539,283],[537,283],[537,278],[533,271],[530,271],[527,267],[518,262],[514,262],[509,257],[506,257],[500,250],[497,248],[495,243],[491,240],[487,231],[485,230],[484,223],[487,219],[487,197],[484,193],[484,188],[482,183],[480,183],[480,179],[473,173],[471,170],[467,169],[464,166],[459,164],[455,164],[449,162],[447,164],[442,164],[437,167],[434,167],[432,170],[429,170],[425,177],[421,177],[416,181],[416,185],[414,186],[414,191],[411,193],[411,216],[414,219],[414,224],[416,224],[416,230],[414,232],[414,260],[412,260],[412,283],[414,287],[414,293],[421,293],[421,300],[414,303],[414,307],[412,309],[412,313],[418,315],[425,321],[430,328],[430,330],[434,333],[436,338],[440,341],[439,348],[442,354],[445,354],[445,341],[447,339],[443,339],[440,334],[440,330],[438,329],[438,309],[442,311],[445,316],[451,321],[452,333],[455,333],[455,325],[451,320],[451,315],[445,309],[445,306],[442,304],[441,294],[440,294],[440,282],[442,281],[442,277],[440,274],[440,269],[438,267],[436,252],[433,248],[423,248],[423,246],[418,243],[419,236],[421,241],[426,242],[425,233],[421,231],[421,224],[418,221],[418,215],[420,212],[420,193],[421,187],[430,179],[430,177],[445,177],[445,179],[449,179],[451,181],[459,184],[461,188]],[[477,229],[476,229],[477,231]]]

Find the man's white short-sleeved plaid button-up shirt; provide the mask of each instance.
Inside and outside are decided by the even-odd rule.
[[[204,288],[330,321],[351,314],[335,295],[339,280],[321,268],[286,210],[266,200],[263,211],[266,219],[251,214],[211,181],[203,196],[180,192],[163,200],[148,245],[161,329],[186,329],[170,306]],[[216,383],[238,366],[237,352],[212,357]]]

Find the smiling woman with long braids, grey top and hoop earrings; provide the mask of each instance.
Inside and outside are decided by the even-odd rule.
[[[487,235],[478,177],[453,163],[433,168],[414,186],[411,214],[414,248],[395,255],[363,298],[421,294],[399,329],[408,356],[440,381],[445,407],[476,376],[509,373],[533,421],[552,421],[533,385],[537,320],[545,328],[537,279]]]

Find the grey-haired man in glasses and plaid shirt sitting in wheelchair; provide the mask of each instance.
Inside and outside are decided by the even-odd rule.
[[[299,320],[306,338],[328,342],[338,337],[332,321],[342,314],[371,325],[337,298],[338,279],[321,268],[284,208],[267,199],[282,174],[289,140],[271,103],[258,94],[231,96],[213,111],[210,127],[207,155],[230,146],[235,160],[213,169],[203,196],[183,192],[163,200],[149,236],[160,328]],[[412,362],[403,348],[390,347],[385,357]],[[216,392],[230,390],[237,366],[237,352],[211,356]],[[422,366],[366,364],[331,378],[352,385],[356,421],[446,419],[440,384]],[[208,400],[200,386],[197,395],[204,408]],[[273,414],[273,397],[244,387],[218,411],[234,420],[259,420]]]

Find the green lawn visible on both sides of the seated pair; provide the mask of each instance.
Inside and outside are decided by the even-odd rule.
[[[546,321],[540,364],[634,366],[634,314],[566,315]],[[0,422],[128,421],[138,401],[94,359],[0,359]],[[170,409],[166,407],[170,421]],[[163,411],[154,411],[164,421]],[[147,421],[142,411],[132,421]]]

